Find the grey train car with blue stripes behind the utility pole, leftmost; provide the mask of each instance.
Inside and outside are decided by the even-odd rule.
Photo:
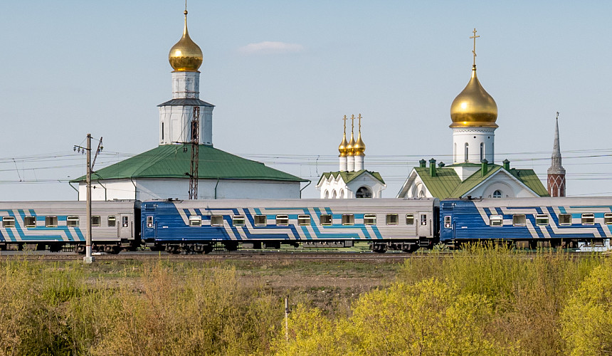
[[[139,246],[139,201],[92,202],[92,248],[118,253]],[[0,202],[0,249],[36,245],[61,251],[64,246],[85,251],[85,201]]]

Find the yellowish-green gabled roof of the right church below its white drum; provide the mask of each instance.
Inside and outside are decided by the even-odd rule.
[[[488,177],[491,177],[496,172],[504,169],[502,166],[497,164],[489,164],[487,173],[483,176],[480,169],[474,174],[470,175],[467,179],[461,182],[457,172],[452,167],[476,167],[480,164],[462,163],[453,164],[452,166],[436,167],[436,177],[431,177],[429,174],[429,167],[415,167],[414,170],[421,177],[423,184],[427,187],[431,195],[438,199],[448,198],[460,198],[463,195],[470,192],[478,184],[482,183]],[[512,174],[512,177],[518,179],[522,184],[525,184],[535,194],[540,197],[548,197],[548,192],[544,185],[537,177],[533,169],[516,169],[512,168],[510,171],[506,171]]]

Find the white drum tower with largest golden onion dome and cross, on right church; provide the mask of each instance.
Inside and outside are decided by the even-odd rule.
[[[450,105],[453,123],[453,163],[495,162],[497,104],[476,76],[476,29],[474,28],[472,78]]]

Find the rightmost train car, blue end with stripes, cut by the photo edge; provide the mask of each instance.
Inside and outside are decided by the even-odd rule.
[[[612,236],[611,197],[445,200],[440,243],[507,241],[519,247],[603,246]]]

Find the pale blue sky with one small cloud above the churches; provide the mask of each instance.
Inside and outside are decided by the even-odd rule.
[[[545,184],[559,112],[569,196],[612,196],[612,1],[189,1],[214,147],[312,180],[362,114],[364,167],[395,197],[451,162],[450,104],[473,61],[497,102],[495,161]],[[95,169],[157,146],[184,1],[0,2],[0,200],[77,199]],[[356,122],[357,124],[357,122]],[[97,145],[97,142],[94,142]],[[302,184],[302,187],[305,184]]]

